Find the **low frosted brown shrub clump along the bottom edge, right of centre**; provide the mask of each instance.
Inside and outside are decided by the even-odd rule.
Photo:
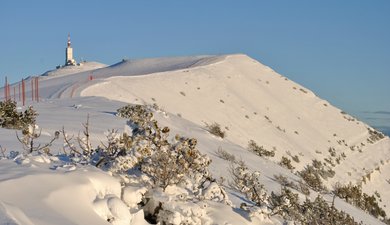
[[[350,215],[334,208],[333,204],[330,206],[320,195],[313,202],[306,199],[304,203],[300,203],[298,194],[287,187],[283,187],[280,194],[272,192],[267,195],[259,182],[260,173],[250,172],[243,162],[233,164],[231,173],[232,186],[253,202],[253,205],[241,204],[241,209],[250,218],[264,221],[271,215],[279,215],[286,220],[285,224],[358,224]]]

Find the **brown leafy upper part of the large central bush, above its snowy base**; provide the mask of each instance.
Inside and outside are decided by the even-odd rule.
[[[102,155],[116,153],[103,161],[111,171],[127,173],[139,169],[148,175],[153,187],[164,190],[172,184],[183,185],[194,193],[213,180],[208,171],[211,160],[196,149],[196,139],[176,135],[170,142],[169,128],[160,128],[146,106],[121,109],[121,115],[129,118],[130,134],[109,138],[109,144],[101,150]]]

